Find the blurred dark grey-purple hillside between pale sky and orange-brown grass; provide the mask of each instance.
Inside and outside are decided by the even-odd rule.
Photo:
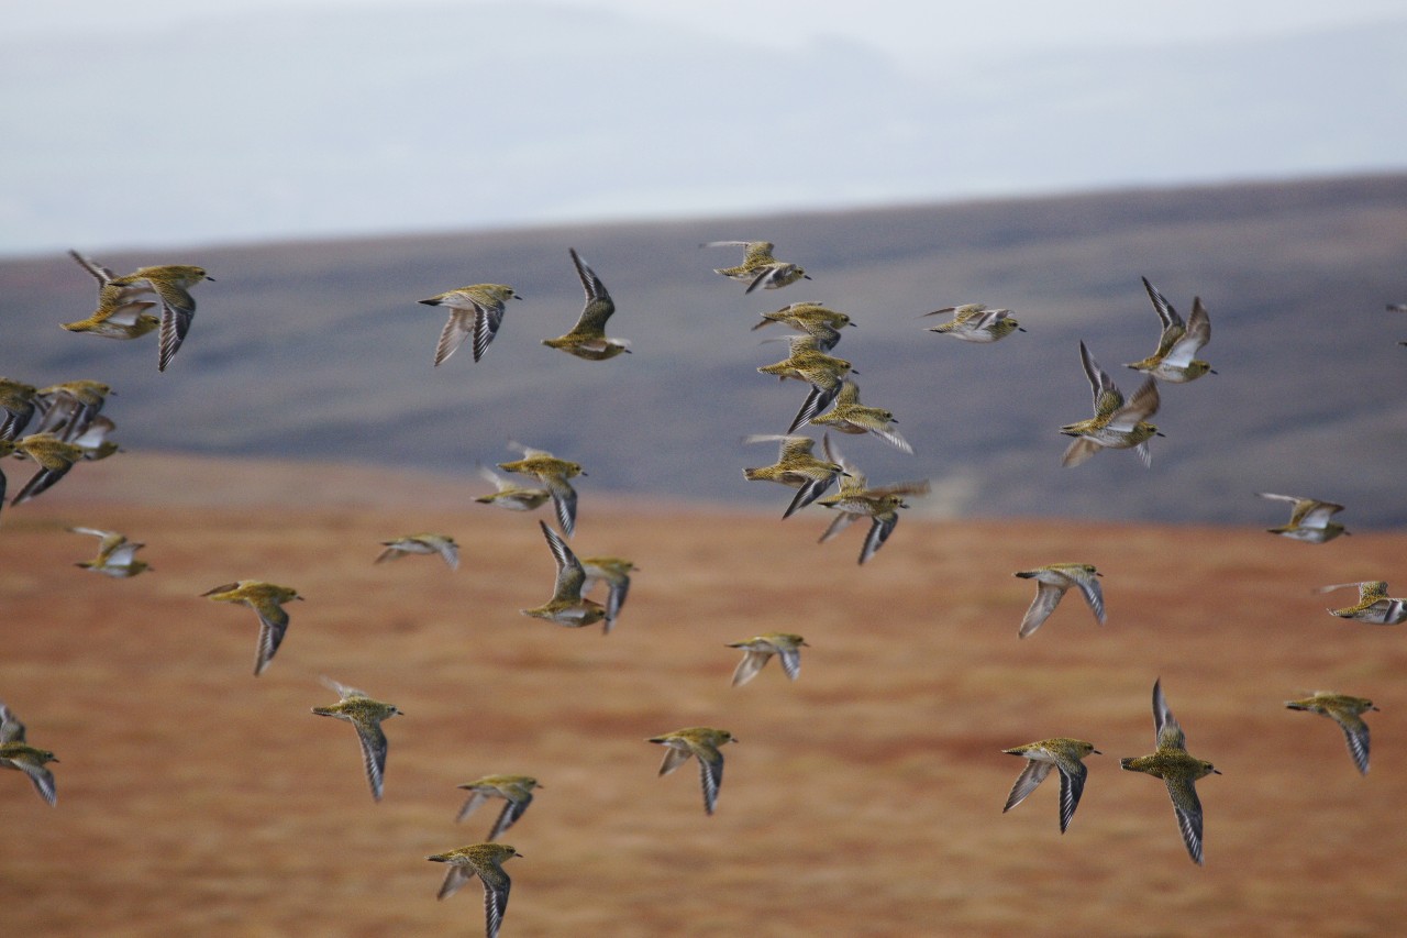
[[[771,239],[813,280],[744,296],[711,270],[740,251],[698,246],[723,238]],[[568,246],[609,287],[609,334],[635,354],[582,362],[540,345],[581,308]],[[819,300],[858,323],[836,354],[916,455],[853,437],[846,452],[872,480],[931,477],[922,510],[1271,525],[1283,511],[1252,493],[1273,490],[1342,501],[1349,528],[1407,523],[1407,315],[1383,310],[1407,301],[1407,176],[97,259],[118,272],[200,263],[217,279],[197,289],[170,369],[156,372],[155,337],[59,328],[94,300],[61,255],[0,263],[0,373],[111,383],[106,413],[131,451],[412,466],[461,476],[469,499],[483,487],[474,463],[511,458],[512,438],[580,461],[584,499],[779,514],[788,494],[741,475],[774,448],[739,439],[782,432],[805,387],[754,370],[787,349],[758,345],[779,327],[749,328]],[[1062,469],[1057,428],[1089,414],[1078,342],[1126,392],[1141,376],[1121,363],[1157,344],[1140,275],[1183,314],[1203,299],[1203,358],[1220,373],[1162,389],[1168,438],[1154,441],[1151,470],[1127,452]],[[432,368],[445,315],[416,300],[477,282],[526,300],[484,361],[466,346]],[[922,313],[962,301],[1010,307],[1029,332],[981,346],[923,331],[934,320]]]

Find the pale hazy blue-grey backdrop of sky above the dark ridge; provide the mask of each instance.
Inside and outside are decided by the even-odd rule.
[[[0,255],[1407,166],[1389,0],[46,0]]]

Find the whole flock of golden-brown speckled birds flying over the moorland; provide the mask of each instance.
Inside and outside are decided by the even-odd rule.
[[[806,272],[788,262],[777,261],[774,246],[765,241],[716,241],[702,246],[743,246],[743,261],[715,272],[747,284],[747,293],[761,287],[775,290],[802,279]],[[146,266],[125,276],[117,276],[108,268],[70,252],[75,261],[98,283],[97,310],[84,320],[63,324],[75,332],[87,332],[106,338],[135,339],[158,331],[158,369],[165,370],[182,342],[186,339],[196,313],[196,301],[190,289],[204,280],[212,280],[203,268],[187,265]],[[543,345],[560,349],[585,361],[608,361],[630,351],[629,341],[609,338],[605,334],[608,320],[615,311],[615,303],[601,277],[570,249],[571,262],[585,292],[585,304],[575,325],[557,338],[543,339]],[[1193,300],[1192,313],[1186,321],[1173,306],[1154,287],[1142,280],[1144,289],[1158,314],[1162,331],[1158,346],[1148,358],[1128,363],[1127,368],[1144,373],[1142,384],[1124,397],[1112,376],[1095,361],[1089,348],[1081,342],[1081,363],[1093,394],[1093,415],[1061,427],[1061,432],[1072,437],[1065,449],[1062,465],[1078,466],[1103,449],[1133,449],[1142,463],[1151,465],[1148,442],[1161,435],[1148,423],[1161,406],[1159,383],[1180,384],[1204,375],[1214,375],[1211,366],[1197,359],[1200,349],[1211,338],[1211,324],[1200,297]],[[146,299],[155,294],[155,300]],[[474,361],[483,358],[504,321],[508,300],[522,297],[507,284],[478,283],[439,293],[421,300],[428,306],[446,307],[449,320],[440,332],[433,362],[442,365],[470,337],[473,337]],[[151,310],[159,308],[159,315]],[[1407,311],[1407,307],[1389,307]],[[1012,310],[989,308],[983,304],[964,304],[936,310],[926,315],[951,315],[950,320],[929,331],[954,337],[967,342],[991,344],[1013,332],[1026,331],[1017,323]],[[772,313],[763,314],[753,328],[760,330],[774,324],[785,325],[795,332],[788,339],[789,355],[757,370],[785,382],[799,380],[809,386],[808,394],[796,411],[785,434],[764,434],[747,437],[744,442],[778,442],[777,462],[768,466],[744,469],[749,480],[775,482],[795,489],[795,496],[782,517],[791,517],[801,508],[817,503],[834,513],[830,527],[820,541],[829,541],[860,518],[870,518],[871,527],[860,551],[860,563],[870,561],[888,541],[898,524],[899,511],[908,507],[905,499],[929,493],[927,480],[896,482],[871,486],[864,472],[841,454],[830,431],[837,434],[871,434],[905,454],[912,454],[909,442],[895,428],[895,415],[884,408],[861,404],[860,387],[854,380],[853,365],[832,355],[846,327],[854,325],[844,313],[830,310],[819,303],[792,303]],[[1403,342],[1407,345],[1407,342]],[[0,377],[0,456],[24,456],[38,463],[38,472],[14,496],[11,504],[28,501],[61,479],[79,462],[103,459],[118,452],[115,442],[107,439],[114,430],[111,420],[104,417],[104,401],[114,393],[111,387],[94,380],[73,380],[51,387],[34,387],[21,380]],[[34,423],[34,430],[24,431]],[[798,431],[813,425],[822,427],[822,456],[816,456],[817,441]],[[602,623],[611,632],[626,601],[630,575],[636,570],[632,561],[619,556],[578,558],[567,544],[575,527],[577,492],[571,480],[584,476],[577,462],[560,459],[550,452],[512,444],[521,459],[498,463],[498,469],[511,476],[533,480],[535,484],[519,483],[501,476],[491,469],[480,472],[494,490],[476,501],[498,506],[512,511],[533,511],[552,501],[557,528],[539,521],[539,528],[556,563],[556,579],[552,597],[522,614],[542,618],[557,625],[581,628]],[[0,473],[0,503],[4,499],[4,475]],[[837,492],[827,496],[836,486]],[[1272,534],[1309,544],[1324,544],[1348,534],[1332,515],[1344,506],[1276,493],[1259,493],[1265,499],[1286,501],[1292,506],[1287,524],[1269,528]],[[75,527],[70,531],[98,538],[97,555],[77,566],[111,577],[131,577],[149,565],[136,559],[142,544],[131,542],[114,531],[89,527]],[[397,561],[409,555],[439,556],[452,569],[459,566],[459,545],[445,534],[421,532],[384,541],[384,551],[374,562]],[[1036,580],[1036,597],[1019,627],[1019,637],[1031,635],[1055,611],[1065,593],[1075,587],[1089,604],[1096,621],[1104,623],[1104,601],[1099,583],[1099,570],[1089,563],[1051,563],[1030,570],[1016,572],[1017,577]],[[597,583],[606,584],[605,603],[587,596]],[[1393,625],[1407,621],[1407,600],[1387,596],[1383,582],[1341,583],[1325,586],[1321,592],[1358,586],[1359,601],[1344,608],[1331,610],[1334,615],[1361,623]],[[248,606],[259,620],[259,638],[255,656],[255,676],[269,668],[288,628],[288,613],[284,606],[301,600],[297,590],[260,580],[239,580],[217,586],[203,596],[212,601]],[[764,665],[777,656],[785,676],[795,680],[801,673],[801,648],[806,646],[802,635],[789,632],[767,632],[744,641],[733,642],[732,648],[743,651],[743,659],[733,672],[732,683],[739,686],[756,677]],[[367,693],[340,684],[331,679],[324,683],[338,694],[338,701],[314,707],[317,715],[333,717],[350,723],[362,748],[363,766],[371,794],[376,800],[383,794],[386,772],[387,738],[381,724],[400,715],[394,704],[370,697]],[[1366,773],[1369,765],[1369,731],[1362,714],[1376,710],[1370,700],[1337,693],[1316,693],[1301,700],[1285,704],[1293,710],[1307,710],[1335,720],[1344,730],[1349,752],[1359,772]],[[1203,813],[1195,782],[1217,769],[1206,761],[1188,752],[1182,727],[1168,707],[1161,682],[1154,683],[1152,711],[1155,730],[1155,751],[1151,755],[1121,761],[1121,768],[1142,772],[1162,779],[1176,814],[1178,825],[1190,858],[1202,863]],[[734,741],[727,730],[713,727],[688,727],[674,732],[651,737],[649,742],[666,748],[660,775],[668,775],[691,756],[699,763],[704,807],[708,814],[715,811],[719,789],[723,780],[723,755],[720,748]],[[1037,786],[1058,769],[1061,779],[1059,827],[1064,832],[1085,787],[1086,768],[1083,758],[1097,753],[1093,744],[1074,738],[1043,739],[1012,749],[1006,753],[1024,758],[1026,766],[1007,797],[1003,811],[1020,804]],[[31,746],[25,739],[25,727],[14,713],[0,703],[0,765],[18,769],[28,775],[38,793],[49,803],[56,801],[56,787],[48,763],[58,762],[46,749]],[[449,872],[439,897],[445,899],[466,882],[477,876],[484,886],[487,913],[487,934],[498,932],[508,904],[509,877],[502,865],[521,856],[512,846],[498,844],[498,838],[516,823],[533,800],[537,780],[525,775],[492,775],[460,786],[470,792],[469,800],[456,817],[467,818],[478,806],[490,799],[502,799],[505,806],[492,825],[488,841],[471,844],[459,849],[429,856],[429,861],[449,865]]]

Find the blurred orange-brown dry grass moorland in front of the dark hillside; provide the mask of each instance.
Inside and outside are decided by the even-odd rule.
[[[11,486],[27,472],[11,466]],[[1324,583],[1407,587],[1407,537],[1311,546],[1259,530],[905,518],[865,568],[862,532],[817,546],[808,510],[625,506],[581,484],[573,548],[642,568],[611,637],[518,610],[550,592],[523,515],[477,479],[121,455],[0,515],[0,699],[53,749],[59,801],[0,772],[0,908],[24,935],[481,934],[477,883],[435,901],[425,856],[484,838],[456,784],[536,775],[502,839],[502,935],[1389,934],[1407,865],[1407,631],[1331,618]],[[1249,493],[1247,497],[1251,497]],[[1266,527],[1280,523],[1266,506]],[[115,528],[155,572],[79,570]],[[1352,521],[1349,520],[1352,527]],[[378,541],[463,545],[373,566]],[[1033,637],[1012,572],[1104,572],[1109,624],[1071,596]],[[256,621],[204,590],[269,579],[307,597],[252,676]],[[1396,580],[1396,582],[1394,582]],[[802,632],[739,689],[725,642]],[[308,713],[328,675],[400,706],[374,803],[352,728]],[[1119,769],[1152,748],[1161,676],[1195,755],[1204,868],[1164,786]],[[1282,701],[1372,697],[1373,768]],[[718,813],[692,763],[656,777],[646,737],[732,730]],[[1058,782],[1003,815],[1000,749],[1095,742],[1059,834]]]

